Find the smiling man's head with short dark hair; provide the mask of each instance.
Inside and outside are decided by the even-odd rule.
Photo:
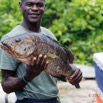
[[[37,23],[41,20],[45,10],[45,0],[24,0],[20,3],[23,17],[30,23]]]

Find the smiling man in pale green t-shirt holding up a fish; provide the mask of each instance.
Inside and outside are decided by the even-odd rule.
[[[56,39],[48,29],[40,26],[45,11],[45,0],[22,0],[19,5],[23,22],[3,36],[2,40],[30,32],[42,33]],[[19,62],[3,50],[1,58],[2,87],[6,93],[16,93],[16,103],[59,103],[57,78],[43,71],[48,65],[46,55],[34,57],[31,65]],[[76,69],[68,81],[75,85],[81,79],[82,73],[80,69]]]

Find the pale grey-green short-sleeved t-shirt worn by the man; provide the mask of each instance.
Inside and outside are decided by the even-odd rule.
[[[1,41],[5,38],[13,37],[15,35],[30,33],[32,31],[27,30],[21,25],[16,26],[8,34],[4,35]],[[56,39],[53,33],[48,29],[41,27],[41,33],[48,35],[49,37]],[[5,70],[17,70],[16,77],[22,77],[26,72],[26,65],[23,63],[19,64],[19,61],[10,56],[8,53],[2,50],[0,68]],[[28,83],[22,90],[16,91],[16,96],[19,100],[23,98],[35,98],[35,99],[50,99],[57,97],[57,79],[47,74],[46,72],[41,72],[39,76],[34,78],[30,83]]]

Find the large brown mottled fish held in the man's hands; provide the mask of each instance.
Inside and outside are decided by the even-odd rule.
[[[1,42],[1,48],[17,60],[29,65],[39,54],[47,55],[49,61],[45,72],[57,78],[65,78],[74,73],[74,55],[57,41],[41,33],[20,34]],[[79,84],[75,85],[80,88]]]

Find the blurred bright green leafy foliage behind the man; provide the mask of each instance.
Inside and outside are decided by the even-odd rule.
[[[0,38],[21,23],[19,0],[0,0]],[[73,51],[76,63],[92,65],[103,50],[103,0],[46,0],[42,25]]]

